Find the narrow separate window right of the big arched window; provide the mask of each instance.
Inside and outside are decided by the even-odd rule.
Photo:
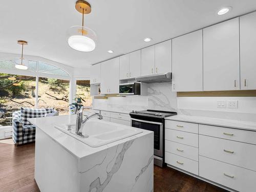
[[[92,106],[92,97],[90,96],[90,80],[76,80],[76,96],[81,100],[83,106]]]

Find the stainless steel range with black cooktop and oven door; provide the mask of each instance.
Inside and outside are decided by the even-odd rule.
[[[164,118],[177,115],[168,111],[132,111],[131,126],[154,132],[154,164],[164,165]]]

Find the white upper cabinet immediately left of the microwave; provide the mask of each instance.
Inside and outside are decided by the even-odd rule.
[[[119,93],[119,57],[101,63],[101,93]]]

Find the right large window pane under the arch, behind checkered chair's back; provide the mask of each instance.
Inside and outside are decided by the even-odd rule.
[[[38,78],[38,108],[55,108],[59,115],[69,114],[69,80]]]

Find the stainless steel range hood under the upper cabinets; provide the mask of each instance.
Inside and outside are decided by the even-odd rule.
[[[168,82],[172,81],[172,73],[162,73],[162,74],[154,74],[147,75],[135,78],[136,81],[153,83],[153,82]]]

